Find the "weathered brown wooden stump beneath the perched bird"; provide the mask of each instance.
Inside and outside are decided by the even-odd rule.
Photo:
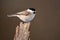
[[[29,35],[30,22],[23,23],[16,27],[16,33],[14,35],[14,40],[30,40]]]

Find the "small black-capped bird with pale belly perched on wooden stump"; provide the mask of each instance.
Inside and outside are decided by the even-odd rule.
[[[16,14],[7,15],[8,17],[18,17],[23,22],[30,22],[34,19],[36,10],[34,8],[28,8],[25,11],[18,12]]]

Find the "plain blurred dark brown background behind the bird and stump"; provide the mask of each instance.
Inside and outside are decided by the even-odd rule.
[[[20,21],[17,17],[8,18],[6,15],[29,7],[37,11],[31,22],[31,40],[60,40],[59,0],[0,0],[0,40],[13,40]]]

